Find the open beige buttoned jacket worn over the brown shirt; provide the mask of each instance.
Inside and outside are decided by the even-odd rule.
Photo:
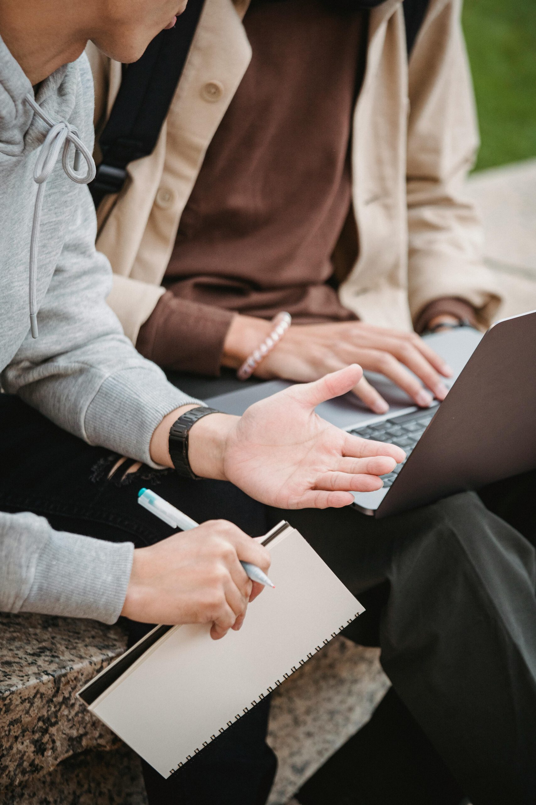
[[[248,68],[251,47],[241,23],[248,2],[206,0],[157,147],[131,163],[122,192],[100,204],[97,247],[116,275],[108,303],[134,342],[164,292],[182,211]],[[346,277],[342,303],[373,324],[411,328],[428,303],[445,296],[466,299],[489,324],[500,302],[481,262],[480,223],[463,196],[478,135],[460,6],[431,0],[409,69],[400,0],[370,13],[354,112],[355,226],[345,228],[334,257]],[[121,64],[92,46],[88,56],[98,133]]]

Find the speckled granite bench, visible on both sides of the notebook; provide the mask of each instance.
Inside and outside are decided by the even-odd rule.
[[[0,614],[2,805],[146,805],[136,755],[76,699],[125,645],[120,625]],[[287,803],[388,687],[378,650],[340,637],[282,684],[268,738],[280,762],[270,803]]]

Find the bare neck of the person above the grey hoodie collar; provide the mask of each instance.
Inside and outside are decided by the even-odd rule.
[[[0,35],[32,85],[76,60],[88,42],[87,0],[0,0]]]

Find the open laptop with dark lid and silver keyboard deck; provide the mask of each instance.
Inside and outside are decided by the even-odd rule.
[[[382,375],[366,378],[390,405],[372,414],[355,397],[321,403],[317,414],[345,431],[406,452],[383,489],[354,493],[354,506],[378,518],[536,468],[536,311],[493,324],[483,336],[463,327],[424,336],[453,369],[443,403],[417,408]],[[268,381],[207,399],[227,414],[292,383]]]

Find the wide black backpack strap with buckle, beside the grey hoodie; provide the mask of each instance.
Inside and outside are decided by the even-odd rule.
[[[100,134],[102,162],[89,185],[96,207],[125,184],[126,167],[153,153],[182,75],[204,0],[188,0],[170,31],[161,31],[141,59],[125,68],[108,122]]]

